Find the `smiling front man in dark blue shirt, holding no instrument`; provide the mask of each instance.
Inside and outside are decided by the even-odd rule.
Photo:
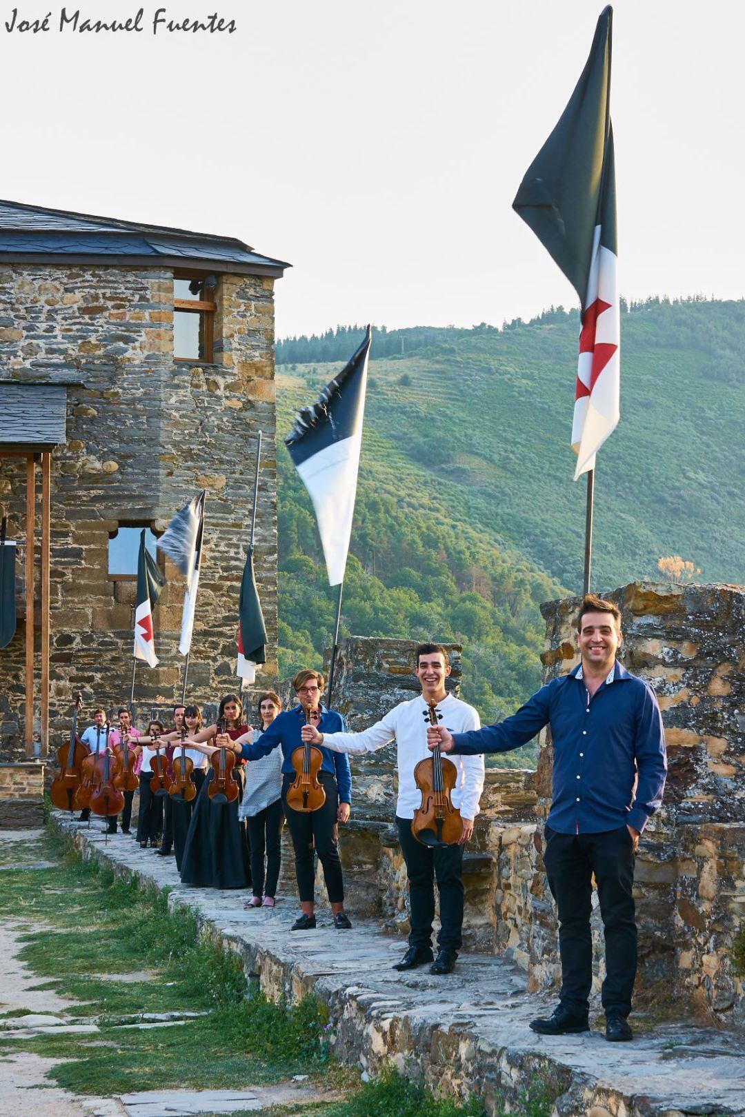
[[[519,748],[545,725],[554,748],[553,800],[544,865],[558,910],[558,1008],[531,1028],[546,1035],[585,1032],[592,985],[592,877],[605,933],[602,1003],[605,1038],[632,1039],[627,1016],[637,972],[632,896],[634,853],[662,802],[667,760],[652,688],[617,662],[622,640],[614,604],[586,594],[575,622],[582,656],[498,725],[450,734],[429,729],[430,746],[464,755]]]

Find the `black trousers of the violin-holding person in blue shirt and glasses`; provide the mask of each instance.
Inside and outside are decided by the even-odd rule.
[[[281,802],[295,849],[295,876],[300,900],[313,904],[315,899],[315,871],[313,851],[323,866],[326,891],[331,904],[344,903],[342,862],[336,844],[336,811],[338,790],[329,772],[319,772],[318,780],[326,792],[326,802],[317,811],[294,811],[287,805],[287,789],[294,777],[286,775],[281,785]]]

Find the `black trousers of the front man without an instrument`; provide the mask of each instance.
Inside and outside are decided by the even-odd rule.
[[[544,865],[558,910],[562,958],[560,1000],[586,1012],[592,986],[592,877],[605,933],[605,1012],[628,1016],[637,975],[637,924],[633,904],[633,841],[627,827],[596,834],[561,834],[545,828]]]

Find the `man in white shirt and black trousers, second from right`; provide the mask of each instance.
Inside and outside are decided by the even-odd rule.
[[[453,756],[457,777],[452,805],[458,808],[462,829],[453,846],[423,846],[411,832],[414,811],[421,805],[421,792],[414,780],[414,767],[431,753],[427,747],[429,704],[437,703],[438,714],[448,728],[466,732],[480,727],[472,706],[446,693],[445,680],[450,665],[439,643],[420,643],[416,651],[414,675],[421,694],[410,701],[399,703],[380,722],[362,733],[318,733],[313,725],[304,726],[302,736],[315,745],[325,745],[338,753],[365,753],[383,748],[391,741],[398,747],[399,800],[395,821],[401,851],[409,876],[411,934],[409,949],[394,970],[413,970],[432,962],[432,920],[434,918],[434,880],[440,894],[440,930],[437,936],[438,956],[430,973],[451,973],[461,947],[464,922],[462,858],[464,846],[474,832],[474,819],[484,787],[481,756]]]

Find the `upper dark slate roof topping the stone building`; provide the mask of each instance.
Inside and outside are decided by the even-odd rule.
[[[0,261],[144,264],[281,276],[290,267],[235,237],[120,221],[67,210],[0,201]]]

